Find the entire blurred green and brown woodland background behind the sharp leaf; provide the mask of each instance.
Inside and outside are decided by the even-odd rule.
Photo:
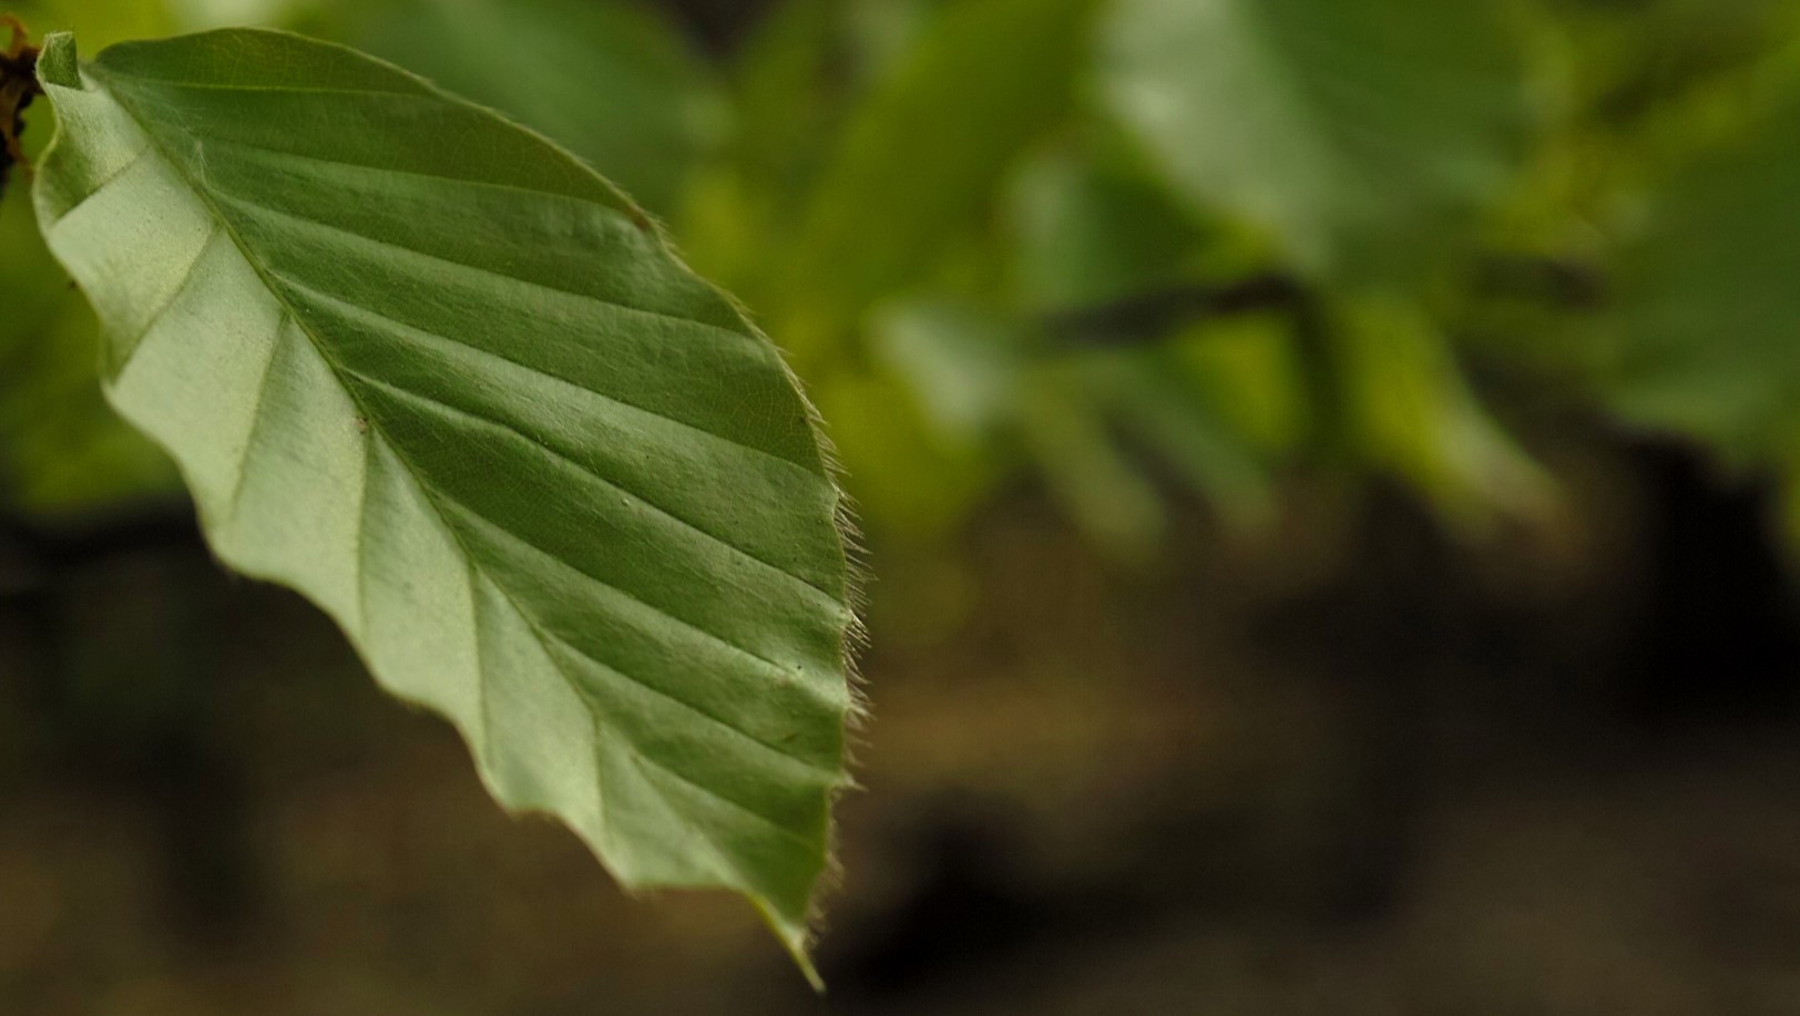
[[[1800,1012],[1800,4],[9,5],[563,142],[877,581],[819,1000],[212,565],[14,187],[0,1012]]]

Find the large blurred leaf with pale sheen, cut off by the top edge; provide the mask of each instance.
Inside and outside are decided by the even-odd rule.
[[[1211,210],[1314,273],[1413,263],[1507,180],[1521,76],[1487,0],[1121,0],[1102,90]]]

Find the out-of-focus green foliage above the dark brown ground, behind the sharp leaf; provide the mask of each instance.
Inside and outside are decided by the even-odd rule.
[[[1170,498],[1255,532],[1379,477],[1480,532],[1555,512],[1543,421],[1595,408],[1782,478],[1800,534],[1791,4],[779,0],[711,56],[626,0],[13,7],[90,52],[292,25],[563,142],[788,349],[882,538],[1039,482],[1148,559]],[[29,216],[0,498],[167,493]]]

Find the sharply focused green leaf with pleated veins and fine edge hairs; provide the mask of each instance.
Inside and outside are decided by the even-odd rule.
[[[218,556],[508,807],[747,894],[805,964],[853,611],[776,349],[574,156],[355,50],[54,36],[41,76],[45,236]]]

